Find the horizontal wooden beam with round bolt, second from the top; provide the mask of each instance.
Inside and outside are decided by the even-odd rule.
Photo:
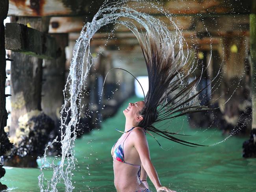
[[[159,18],[170,31],[176,30],[170,20],[164,16],[155,16]],[[52,17],[50,19],[49,33],[75,33],[81,31],[83,25],[90,20],[85,17]],[[125,20],[125,18],[121,18]],[[172,20],[182,31],[208,31],[226,33],[226,31],[249,31],[249,15],[221,15],[213,17],[173,16]],[[135,22],[139,28],[139,24]],[[119,24],[118,32],[130,31],[125,26]],[[108,29],[111,30],[110,27]],[[103,33],[103,32],[102,32]]]

